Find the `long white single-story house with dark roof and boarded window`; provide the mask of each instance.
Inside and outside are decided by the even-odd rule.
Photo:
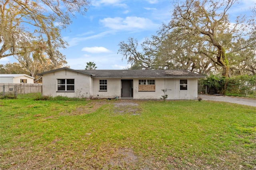
[[[86,98],[197,99],[197,80],[204,75],[184,70],[74,70],[40,73],[42,94]]]

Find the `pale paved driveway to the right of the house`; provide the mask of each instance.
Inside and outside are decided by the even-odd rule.
[[[254,106],[256,107],[256,99],[248,99],[243,97],[230,97],[221,95],[198,95],[202,100],[208,101],[224,101],[229,103],[237,103],[240,105]]]

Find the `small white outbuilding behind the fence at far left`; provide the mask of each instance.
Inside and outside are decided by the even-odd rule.
[[[34,83],[34,77],[26,74],[0,74],[0,83]]]

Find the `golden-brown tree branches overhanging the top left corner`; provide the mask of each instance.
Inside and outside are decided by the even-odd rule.
[[[64,47],[61,29],[71,23],[74,12],[85,14],[88,0],[2,0],[0,2],[0,59],[20,54],[31,40],[47,43],[48,55]],[[57,46],[56,46],[57,45]]]

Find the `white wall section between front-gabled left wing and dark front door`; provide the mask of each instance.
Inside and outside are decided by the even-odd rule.
[[[107,91],[100,91],[100,80],[107,80]],[[91,87],[94,98],[121,97],[121,79],[93,78]]]

